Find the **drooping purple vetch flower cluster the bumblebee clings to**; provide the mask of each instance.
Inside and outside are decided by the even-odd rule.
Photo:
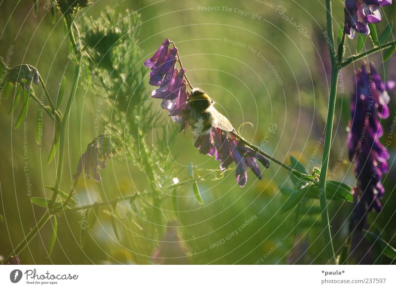
[[[188,105],[190,93],[187,92],[185,78],[186,70],[180,71],[175,68],[178,60],[177,48],[170,48],[173,43],[166,39],[163,41],[154,55],[145,61],[145,66],[151,68],[149,83],[159,88],[152,91],[153,98],[162,99],[161,107],[169,112],[172,120],[180,124],[180,131],[190,124],[191,110]],[[247,183],[247,168],[261,179],[260,168],[256,160],[264,167],[269,167],[269,161],[255,153],[251,149],[242,145],[228,132],[212,127],[206,133],[195,135],[194,145],[199,149],[199,153],[214,156],[216,161],[220,161],[220,168],[225,170],[233,162],[236,163],[236,177],[238,184],[243,187]]]

